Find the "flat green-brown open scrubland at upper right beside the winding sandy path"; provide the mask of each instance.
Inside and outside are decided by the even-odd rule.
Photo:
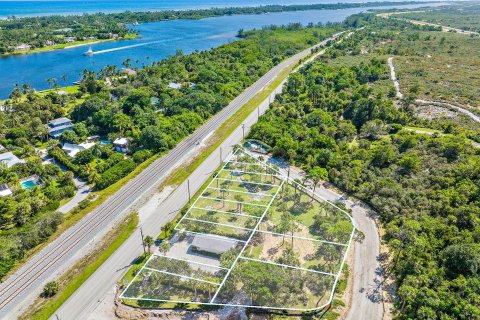
[[[417,38],[421,40],[412,41]],[[422,99],[480,106],[480,37],[405,32],[385,45],[395,54],[400,89]]]

